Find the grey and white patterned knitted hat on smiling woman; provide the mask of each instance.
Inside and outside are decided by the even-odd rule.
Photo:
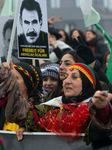
[[[43,78],[46,76],[50,76],[50,77],[58,79],[59,65],[58,64],[49,64],[49,65],[46,65],[43,69],[41,69],[41,71],[42,71]]]

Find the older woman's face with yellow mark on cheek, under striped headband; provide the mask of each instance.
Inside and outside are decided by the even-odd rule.
[[[82,91],[82,80],[77,69],[68,71],[63,81],[63,90],[66,97],[78,96]]]

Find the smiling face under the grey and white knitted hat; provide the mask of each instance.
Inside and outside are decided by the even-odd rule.
[[[43,78],[43,88],[46,90],[52,90],[58,85],[58,79],[46,76]]]

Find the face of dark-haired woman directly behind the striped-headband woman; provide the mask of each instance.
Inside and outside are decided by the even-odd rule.
[[[64,80],[65,78],[65,73],[67,69],[72,65],[75,64],[75,61],[73,60],[73,57],[70,54],[65,54],[61,61],[60,61],[60,66],[59,66],[59,76],[60,80]]]

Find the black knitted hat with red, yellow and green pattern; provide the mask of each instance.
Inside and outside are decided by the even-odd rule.
[[[23,62],[14,64],[14,67],[23,77],[29,91],[42,90],[42,76],[39,68]]]

